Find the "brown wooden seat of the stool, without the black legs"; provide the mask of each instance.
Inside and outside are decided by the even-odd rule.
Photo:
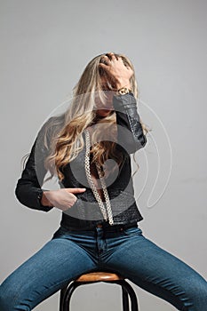
[[[111,282],[123,280],[123,276],[108,272],[91,272],[81,275],[76,279],[76,282]]]

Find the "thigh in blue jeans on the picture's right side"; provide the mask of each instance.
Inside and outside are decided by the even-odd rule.
[[[121,239],[122,243],[109,252],[106,267],[179,310],[207,310],[207,283],[202,275],[148,240],[140,228],[126,229]]]

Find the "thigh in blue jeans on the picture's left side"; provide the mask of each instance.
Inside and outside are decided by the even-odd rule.
[[[1,284],[0,310],[31,310],[95,266],[87,251],[59,230]]]

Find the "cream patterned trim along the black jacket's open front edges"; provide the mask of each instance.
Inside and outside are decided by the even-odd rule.
[[[105,179],[103,177],[103,174],[102,174],[102,171],[100,168],[100,163],[98,163],[97,161],[95,161],[95,164],[96,164],[97,171],[99,173],[100,183],[101,183],[101,187],[103,189],[103,194],[105,197],[105,203],[106,203],[107,207],[105,207],[103,201],[101,200],[100,194],[97,191],[97,188],[95,187],[95,185],[92,181],[92,176],[91,176],[91,171],[90,171],[90,133],[86,129],[85,129],[85,147],[86,147],[86,152],[85,152],[85,158],[84,158],[84,167],[85,167],[86,177],[88,179],[90,187],[92,188],[92,193],[95,196],[95,198],[96,198],[96,200],[100,206],[100,211],[102,212],[103,218],[105,220],[108,219],[109,224],[113,225],[114,220],[113,220],[113,215],[112,215],[112,210],[111,210],[111,203],[110,203],[110,199],[109,199],[109,196],[107,193],[107,187],[106,187]]]

